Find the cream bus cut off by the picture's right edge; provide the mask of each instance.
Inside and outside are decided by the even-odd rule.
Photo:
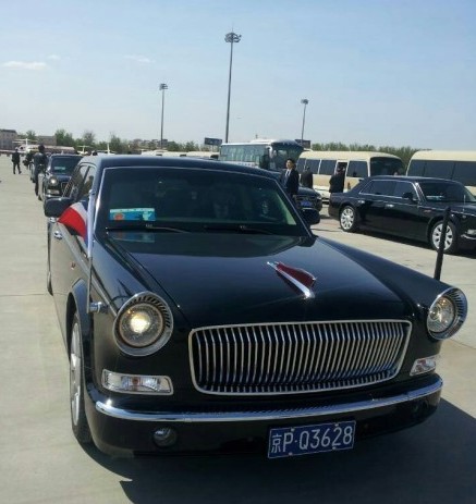
[[[406,174],[457,181],[476,195],[476,150],[418,150]]]

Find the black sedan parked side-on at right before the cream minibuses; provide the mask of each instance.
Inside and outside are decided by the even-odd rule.
[[[334,193],[329,216],[342,230],[368,230],[428,243],[438,250],[443,217],[451,209],[444,251],[476,247],[476,198],[460,182],[411,176],[371,176]]]

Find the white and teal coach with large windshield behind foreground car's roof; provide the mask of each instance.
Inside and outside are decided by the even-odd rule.
[[[295,140],[256,138],[252,142],[221,144],[220,161],[231,161],[265,170],[285,169],[286,159],[297,161],[303,147]]]

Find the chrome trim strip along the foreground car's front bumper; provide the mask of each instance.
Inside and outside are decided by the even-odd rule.
[[[217,422],[242,422],[242,421],[269,421],[269,420],[285,420],[300,419],[308,417],[320,417],[329,415],[341,415],[366,409],[385,408],[402,403],[417,401],[428,395],[439,392],[443,385],[441,378],[438,378],[436,383],[413,390],[405,394],[393,395],[391,397],[361,401],[356,403],[337,404],[331,406],[316,406],[308,408],[296,409],[277,409],[264,411],[133,411],[127,409],[115,408],[108,403],[98,401],[96,409],[109,417],[119,418],[121,420],[134,421],[160,421],[175,423],[217,423]]]

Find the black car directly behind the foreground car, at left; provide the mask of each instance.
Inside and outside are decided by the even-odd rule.
[[[38,173],[38,199],[46,201],[51,197],[61,196],[82,158],[80,155],[51,155],[45,172]]]

